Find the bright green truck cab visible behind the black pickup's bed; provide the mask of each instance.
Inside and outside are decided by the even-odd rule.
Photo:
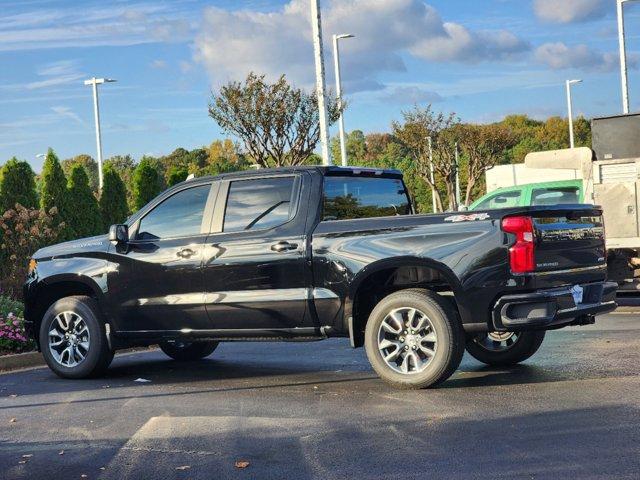
[[[469,210],[583,203],[582,180],[562,180],[498,188],[473,202]]]

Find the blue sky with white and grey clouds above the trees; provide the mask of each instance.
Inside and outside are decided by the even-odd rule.
[[[327,85],[341,41],[348,131],[389,131],[414,104],[463,121],[621,113],[615,0],[322,0]],[[631,110],[640,110],[640,1],[625,4]],[[309,0],[0,0],[0,162],[163,155],[225,138],[211,91],[247,73],[314,86]],[[332,129],[335,134],[335,127]]]

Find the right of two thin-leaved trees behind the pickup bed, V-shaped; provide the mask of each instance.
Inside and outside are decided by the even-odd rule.
[[[504,125],[460,125],[460,147],[467,157],[467,188],[464,204],[469,205],[473,188],[484,172],[505,156],[505,151],[517,143],[517,138]]]

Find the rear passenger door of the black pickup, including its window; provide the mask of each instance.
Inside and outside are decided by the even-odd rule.
[[[203,267],[214,329],[311,326],[304,320],[309,185],[306,173],[221,185],[212,225],[218,233],[207,239]]]

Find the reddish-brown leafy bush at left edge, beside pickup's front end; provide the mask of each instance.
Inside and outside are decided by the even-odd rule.
[[[46,213],[16,204],[4,212],[0,218],[0,288],[5,295],[20,297],[31,255],[55,243],[62,228],[65,224],[57,220],[55,207]]]

